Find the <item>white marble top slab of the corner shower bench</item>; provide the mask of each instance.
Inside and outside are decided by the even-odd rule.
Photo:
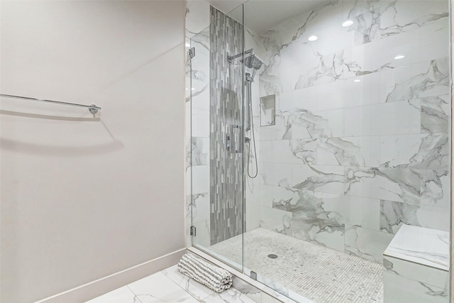
[[[449,233],[403,225],[383,255],[448,271]]]

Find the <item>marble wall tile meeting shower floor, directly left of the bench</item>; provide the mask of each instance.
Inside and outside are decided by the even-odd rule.
[[[392,238],[389,233],[345,225],[345,252],[382,263],[383,252]]]

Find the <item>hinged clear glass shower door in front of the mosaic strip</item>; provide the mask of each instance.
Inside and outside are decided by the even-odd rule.
[[[243,270],[243,65],[228,60],[243,26],[214,7],[210,17],[191,39],[192,245]]]

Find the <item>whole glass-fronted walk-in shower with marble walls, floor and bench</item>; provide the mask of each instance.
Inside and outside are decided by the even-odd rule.
[[[450,1],[223,2],[188,1],[192,246],[297,302],[450,302]]]

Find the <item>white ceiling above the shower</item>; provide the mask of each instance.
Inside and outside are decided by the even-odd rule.
[[[211,5],[224,13],[232,11],[243,2],[238,0],[209,0]],[[263,33],[289,17],[310,11],[326,2],[328,0],[249,0],[244,5],[245,26],[256,33]],[[232,11],[229,16],[240,21],[241,9]]]

